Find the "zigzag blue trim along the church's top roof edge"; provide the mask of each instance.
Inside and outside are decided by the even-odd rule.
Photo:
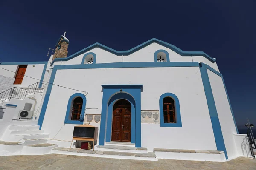
[[[204,53],[203,51],[182,51],[180,48],[177,48],[176,46],[174,46],[172,44],[169,44],[167,42],[158,40],[156,38],[152,38],[151,40],[148,40],[148,41],[146,41],[146,42],[144,42],[144,43],[142,43],[140,45],[137,45],[136,47],[131,48],[130,50],[127,50],[127,51],[116,51],[116,50],[114,50],[112,48],[109,48],[109,47],[107,47],[105,45],[102,45],[102,44],[96,42],[95,44],[90,45],[90,46],[88,46],[88,47],[86,47],[86,48],[76,52],[75,54],[72,54],[69,57],[66,57],[66,58],[56,58],[56,59],[54,59],[52,61],[52,64],[55,61],[68,61],[70,59],[73,59],[76,56],[79,56],[79,55],[81,55],[83,53],[86,53],[87,51],[90,51],[91,49],[97,48],[97,47],[101,48],[101,49],[103,49],[105,51],[108,51],[108,52],[110,52],[112,54],[115,54],[117,56],[122,56],[122,55],[128,56],[128,55],[130,55],[130,54],[132,54],[132,53],[134,53],[134,52],[136,52],[136,51],[138,51],[138,50],[140,50],[140,49],[142,49],[142,48],[144,48],[144,47],[146,47],[146,46],[148,46],[148,45],[150,45],[150,44],[152,44],[154,42],[159,44],[159,45],[162,45],[162,46],[164,46],[166,48],[169,48],[172,51],[175,51],[177,54],[180,54],[181,56],[191,56],[191,55],[193,55],[193,56],[204,56],[205,58],[209,59],[212,63],[214,63],[216,61],[215,58],[210,57],[208,54]]]

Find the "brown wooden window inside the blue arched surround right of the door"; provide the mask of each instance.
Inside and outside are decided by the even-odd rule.
[[[171,97],[163,98],[163,121],[164,123],[176,123],[175,105]]]

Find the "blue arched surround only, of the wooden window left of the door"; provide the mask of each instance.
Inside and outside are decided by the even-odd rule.
[[[83,99],[83,104],[82,104],[82,110],[81,110],[81,115],[80,115],[80,120],[71,120],[71,115],[73,111],[73,102],[77,97],[81,97]],[[84,118],[84,112],[85,112],[85,105],[86,105],[86,96],[81,93],[75,93],[70,98],[68,99],[68,104],[67,104],[67,111],[66,111],[66,116],[64,123],[65,124],[83,124],[83,118]],[[82,119],[81,119],[82,118]]]

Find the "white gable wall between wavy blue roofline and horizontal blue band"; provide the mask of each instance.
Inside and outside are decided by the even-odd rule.
[[[152,43],[139,51],[134,52],[129,56],[116,56],[108,51],[102,50],[101,48],[94,48],[86,53],[93,52],[96,54],[96,63],[112,63],[112,62],[154,62],[154,53],[157,50],[166,50],[169,53],[170,62],[192,62],[191,56],[181,56],[176,52],[172,51],[169,48],[166,48],[157,43]],[[86,54],[84,53],[84,54]],[[81,64],[82,58],[84,54],[81,54],[73,59],[62,62],[54,62],[54,65],[73,65],[73,64]],[[193,57],[194,58],[194,57]],[[204,62],[208,64],[208,59],[205,59],[203,56],[196,56],[195,61]],[[218,71],[218,67],[216,64],[209,61],[209,65],[213,68],[216,68]]]

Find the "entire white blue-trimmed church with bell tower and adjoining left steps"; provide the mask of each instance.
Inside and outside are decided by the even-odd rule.
[[[250,156],[215,58],[155,38],[127,51],[95,43],[68,56],[69,43],[61,35],[46,62],[0,63],[0,155]],[[71,144],[83,124],[99,129],[92,153]]]

